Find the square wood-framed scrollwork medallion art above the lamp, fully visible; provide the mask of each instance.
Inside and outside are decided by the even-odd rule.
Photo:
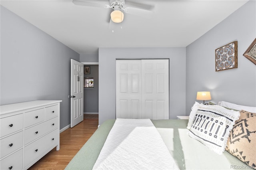
[[[237,41],[215,50],[215,71],[237,68]]]

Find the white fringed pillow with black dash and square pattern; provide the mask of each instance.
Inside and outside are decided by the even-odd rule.
[[[230,130],[239,116],[239,111],[228,110],[218,105],[200,104],[188,135],[217,154],[222,154]]]

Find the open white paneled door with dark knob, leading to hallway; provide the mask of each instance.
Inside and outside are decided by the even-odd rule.
[[[84,64],[71,59],[71,127],[84,120]]]

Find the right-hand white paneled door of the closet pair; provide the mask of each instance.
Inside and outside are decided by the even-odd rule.
[[[169,60],[142,59],[142,119],[169,119]]]

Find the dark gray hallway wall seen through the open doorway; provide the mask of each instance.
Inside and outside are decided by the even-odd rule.
[[[84,88],[84,113],[99,112],[99,66],[90,66],[90,74],[85,74],[84,77],[94,78],[94,88]]]

